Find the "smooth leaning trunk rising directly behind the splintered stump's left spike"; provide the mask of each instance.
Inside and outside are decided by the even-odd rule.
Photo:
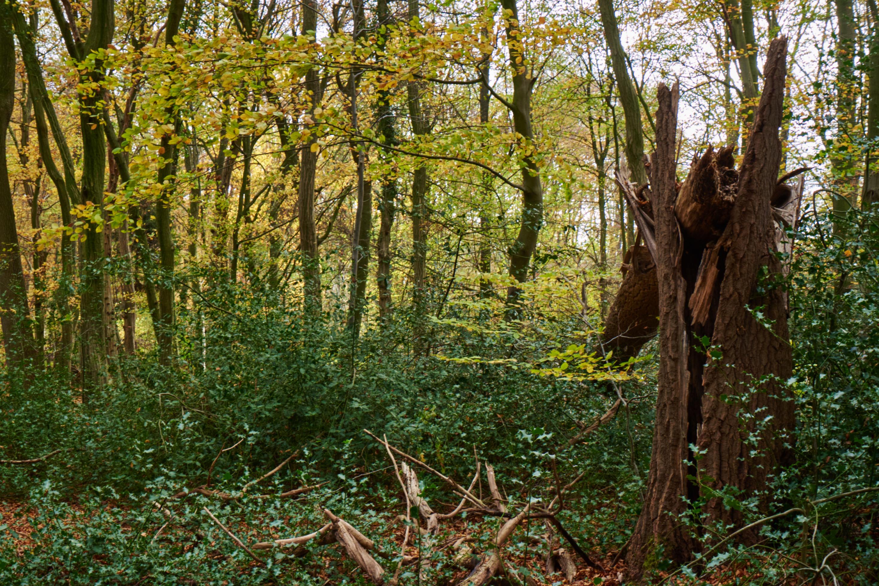
[[[610,50],[611,64],[614,67],[616,86],[620,92],[623,117],[626,119],[626,162],[632,182],[637,185],[647,183],[644,170],[644,138],[641,127],[641,106],[626,67],[626,52],[620,42],[620,29],[616,23],[614,0],[599,0],[601,24],[607,48]]]

